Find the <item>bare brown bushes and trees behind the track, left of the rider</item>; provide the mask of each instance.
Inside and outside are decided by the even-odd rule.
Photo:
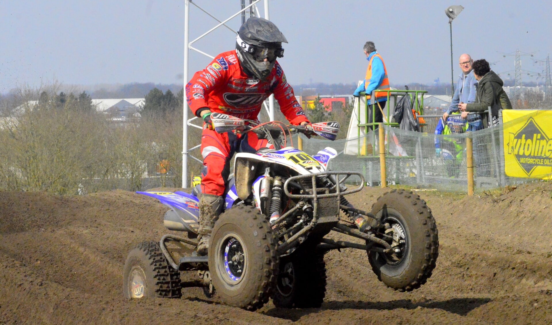
[[[0,119],[0,190],[77,194],[182,185],[182,109],[121,123],[82,109],[82,94],[81,101],[19,93],[27,96],[20,102],[41,99]],[[190,128],[190,146],[200,133]],[[199,169],[190,160],[192,174]]]

